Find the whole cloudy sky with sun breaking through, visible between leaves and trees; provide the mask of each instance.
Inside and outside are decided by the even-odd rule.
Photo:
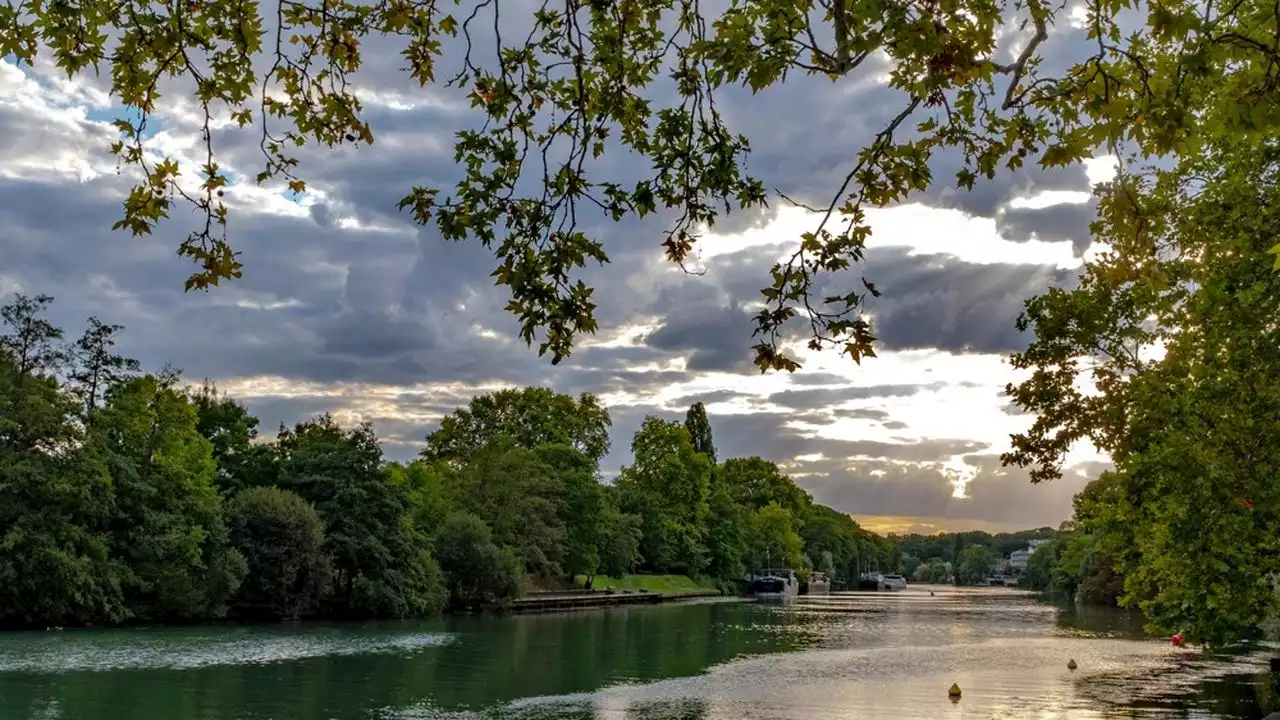
[[[1051,64],[1078,40],[1078,28],[1060,31],[1046,45]],[[456,181],[453,132],[475,115],[458,95],[412,85],[399,46],[367,51],[358,88],[375,145],[305,151],[301,197],[230,187],[244,277],[189,295],[191,266],[174,256],[193,222],[186,209],[152,237],[110,229],[132,178],[108,152],[120,108],[106,79],[0,61],[0,295],[54,295],[72,336],[91,314],[125,325],[127,354],[215,379],[268,430],[324,410],[370,420],[398,459],[470,396],[543,384],[609,405],[611,474],[645,415],[681,418],[703,401],[722,457],[774,460],[818,501],[878,530],[1056,525],[1098,471],[1102,459],[1080,447],[1066,478],[1032,486],[998,455],[1028,423],[1002,397],[1015,379],[1005,356],[1028,341],[1014,319],[1027,297],[1074,282],[1089,251],[1088,191],[1106,159],[1005,173],[966,192],[950,186],[955,158],[940,156],[936,187],[870,214],[865,273],[883,291],[872,306],[879,357],[858,366],[805,351],[794,375],[751,366],[750,304],[772,261],[813,228],[804,211],[774,201],[721,223],[700,246],[701,275],[663,261],[664,218],[600,223],[612,263],[585,274],[600,332],[552,366],[516,340],[492,256],[396,210],[413,184]],[[753,174],[824,201],[900,106],[877,77],[796,77],[755,96],[726,92],[721,105],[753,142]],[[196,127],[192,106],[175,100],[155,147],[195,158]],[[238,177],[261,167],[257,132],[215,133]]]

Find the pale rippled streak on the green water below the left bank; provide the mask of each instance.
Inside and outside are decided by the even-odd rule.
[[[265,665],[308,657],[415,652],[452,642],[449,633],[343,632],[337,628],[212,628],[155,639],[142,630],[20,633],[0,641],[0,673],[70,673],[132,669],[189,670],[212,665]]]

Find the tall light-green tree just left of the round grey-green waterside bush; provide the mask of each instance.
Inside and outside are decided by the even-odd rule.
[[[227,542],[209,441],[168,382],[113,386],[90,429],[115,489],[111,552],[129,569],[131,611],[147,620],[218,618],[244,574]]]

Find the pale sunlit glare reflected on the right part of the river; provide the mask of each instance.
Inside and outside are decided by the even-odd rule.
[[[815,646],[585,700],[535,698],[494,716],[579,717],[582,702],[596,720],[1263,715],[1258,659],[1172,648],[1143,637],[1130,612],[951,588],[804,598],[774,612],[817,630]],[[964,688],[959,702],[946,696],[951,682]]]

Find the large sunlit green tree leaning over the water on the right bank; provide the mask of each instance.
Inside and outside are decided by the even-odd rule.
[[[1108,452],[1076,550],[1124,578],[1151,630],[1226,644],[1276,610],[1280,278],[1263,265],[1280,151],[1210,129],[1197,143],[1211,159],[1125,178],[1140,213],[1103,208],[1103,233],[1143,258],[1101,254],[1078,288],[1027,304],[1036,340],[1012,364],[1030,373],[1010,395],[1037,419],[1006,461],[1051,480],[1078,442]]]

